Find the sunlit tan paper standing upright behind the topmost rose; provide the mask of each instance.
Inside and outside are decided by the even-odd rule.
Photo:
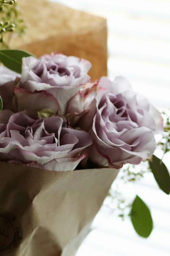
[[[47,0],[17,2],[29,26],[23,37],[11,41],[12,48],[37,57],[51,52],[77,56],[92,63],[92,80],[107,75],[106,19]]]

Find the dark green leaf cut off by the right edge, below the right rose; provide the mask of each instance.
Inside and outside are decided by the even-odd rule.
[[[161,160],[153,155],[152,161],[149,161],[149,166],[159,187],[163,190],[163,192],[169,195],[170,175],[165,164],[163,162],[161,163]]]

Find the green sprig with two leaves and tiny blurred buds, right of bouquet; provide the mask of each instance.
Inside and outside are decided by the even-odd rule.
[[[161,145],[164,156],[164,154],[170,151],[170,116],[163,112],[163,117],[165,119],[164,132],[157,145],[158,147]],[[163,163],[163,157],[162,159],[159,159],[153,155],[146,161],[141,162],[138,166],[126,164],[121,170],[120,179],[123,180],[124,183],[133,182],[135,184],[135,182],[143,179],[146,174],[151,172],[160,189],[165,194],[169,195],[170,175],[166,165]],[[114,209],[111,208],[111,210],[118,210],[118,216],[123,220],[125,217],[130,216],[134,229],[138,235],[148,237],[153,228],[153,221],[149,208],[142,199],[139,198],[139,196],[136,196],[133,202],[128,202],[123,197],[118,186],[115,190],[111,189],[109,191],[109,196],[112,202],[114,201],[114,203],[112,203]]]

